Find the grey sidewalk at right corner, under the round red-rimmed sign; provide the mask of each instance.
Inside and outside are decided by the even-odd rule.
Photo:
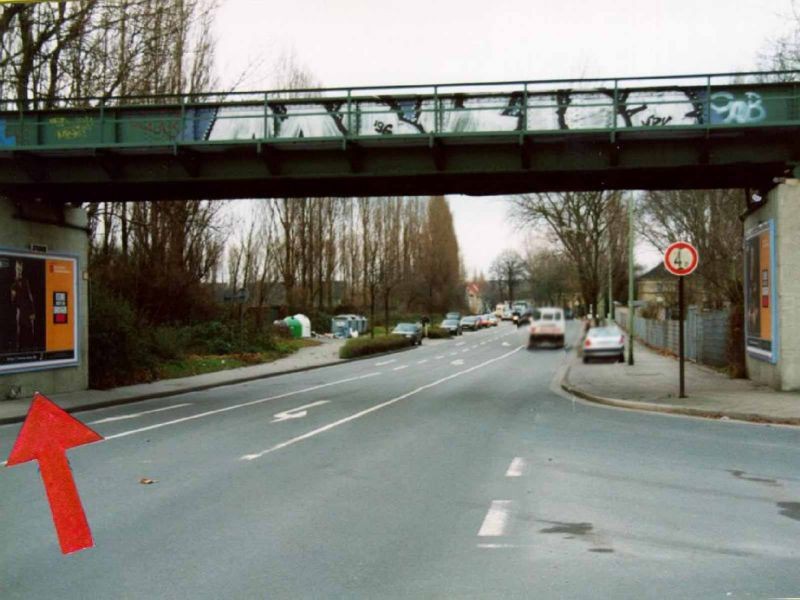
[[[580,398],[624,408],[800,425],[800,392],[777,392],[687,361],[688,398],[678,398],[677,359],[638,343],[634,358],[632,367],[599,361],[585,365],[573,355],[561,386]]]

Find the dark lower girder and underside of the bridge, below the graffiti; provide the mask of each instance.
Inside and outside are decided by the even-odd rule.
[[[799,158],[798,127],[6,150],[0,194],[74,203],[768,188]]]

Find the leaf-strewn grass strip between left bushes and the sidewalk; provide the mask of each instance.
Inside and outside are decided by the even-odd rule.
[[[177,379],[205,373],[216,373],[239,367],[260,365],[290,354],[300,348],[319,346],[321,342],[311,339],[276,340],[274,348],[266,352],[240,352],[236,354],[196,355],[166,361],[159,367],[159,379]]]

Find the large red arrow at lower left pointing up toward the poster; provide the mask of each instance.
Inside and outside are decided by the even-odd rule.
[[[39,461],[58,543],[64,554],[94,545],[67,461],[67,450],[102,439],[103,436],[37,392],[8,457],[9,467],[31,460]]]

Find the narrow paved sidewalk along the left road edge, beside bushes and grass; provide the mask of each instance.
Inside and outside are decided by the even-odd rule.
[[[238,369],[229,369],[227,371],[206,373],[204,375],[181,377],[179,379],[163,379],[153,383],[141,383],[111,390],[87,390],[68,394],[48,394],[48,397],[67,412],[74,412],[78,410],[88,410],[90,408],[127,404],[140,400],[163,398],[165,396],[174,396],[175,394],[182,394],[185,392],[196,392],[221,385],[242,383],[254,379],[262,379],[264,377],[306,371],[308,369],[316,369],[337,363],[348,362],[339,358],[339,348],[344,344],[344,340],[325,338],[319,338],[319,340],[322,342],[319,346],[300,348],[300,350],[294,354],[279,358],[273,362],[264,363],[263,365],[241,367]],[[30,403],[31,398],[1,401],[0,425],[23,421],[28,412]]]

